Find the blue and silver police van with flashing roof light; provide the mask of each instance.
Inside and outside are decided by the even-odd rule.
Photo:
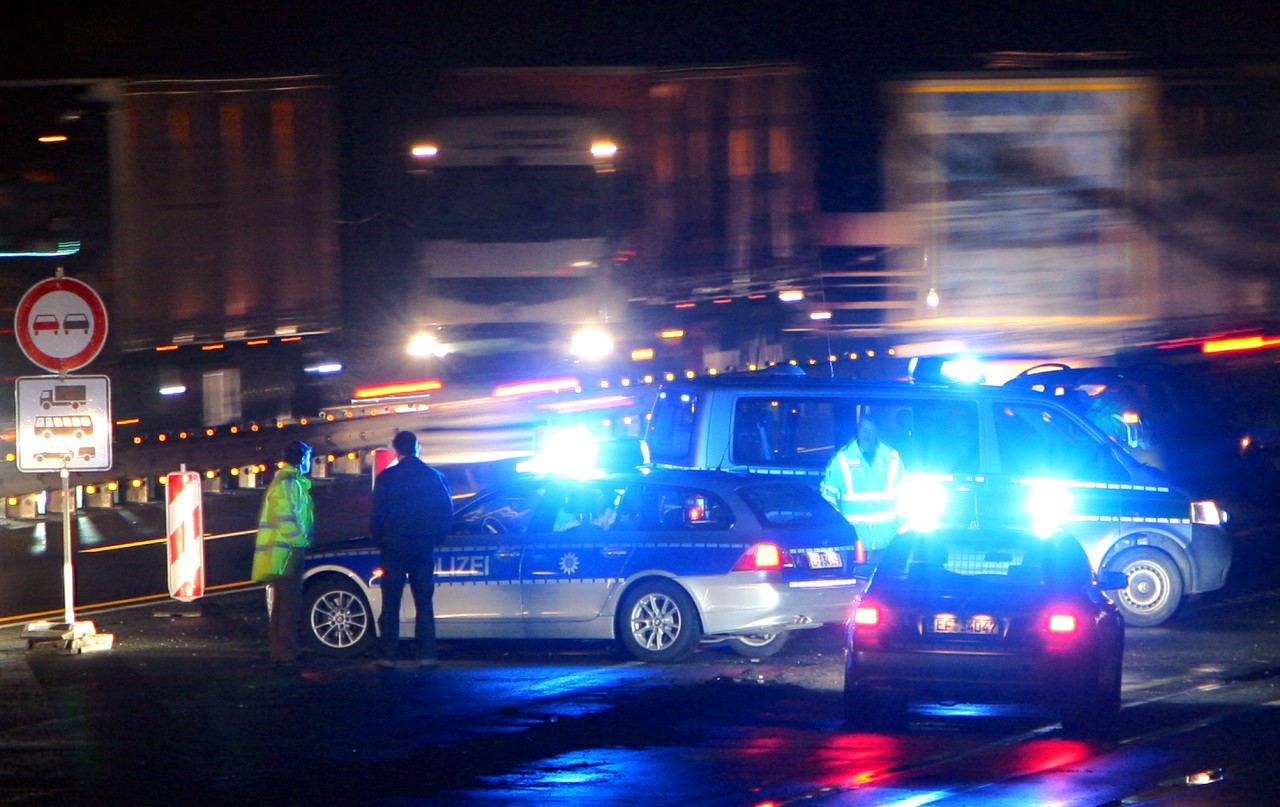
[[[901,462],[899,525],[1065,529],[1094,569],[1121,571],[1129,625],[1158,625],[1226,583],[1231,543],[1213,501],[1193,501],[1096,425],[1033,392],[980,384],[748,373],[663,384],[645,432],[666,468],[822,482],[874,418]]]

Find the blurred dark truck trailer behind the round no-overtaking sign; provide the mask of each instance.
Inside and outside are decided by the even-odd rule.
[[[206,427],[292,414],[308,346],[342,322],[333,87],[262,76],[111,88],[116,411]]]

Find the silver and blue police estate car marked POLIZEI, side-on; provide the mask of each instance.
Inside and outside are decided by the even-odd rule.
[[[442,639],[613,639],[672,661],[700,642],[749,657],[791,630],[842,624],[861,580],[854,529],[794,479],[637,469],[522,475],[458,509],[435,552]],[[338,656],[369,649],[381,606],[366,539],[305,571],[305,635]],[[413,634],[406,592],[401,635]]]

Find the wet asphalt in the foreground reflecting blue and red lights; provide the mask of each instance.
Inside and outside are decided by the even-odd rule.
[[[81,615],[108,652],[0,629],[0,804],[1258,804],[1280,765],[1280,548],[1130,630],[1110,740],[1030,710],[840,721],[838,635],[643,665],[607,643],[443,642],[436,670],[274,674],[260,589]],[[1226,774],[1215,774],[1226,771]],[[1189,787],[1188,776],[1211,783]],[[1216,776],[1216,778],[1215,778]]]

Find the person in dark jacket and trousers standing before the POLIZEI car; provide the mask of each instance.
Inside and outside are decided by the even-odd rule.
[[[374,514],[370,535],[381,550],[383,611],[378,616],[378,664],[396,664],[399,643],[399,610],[404,582],[413,592],[417,617],[413,634],[417,664],[434,667],[435,544],[453,523],[453,496],[444,474],[419,459],[417,436],[398,432],[392,441],[396,462],[378,474],[374,483]]]

